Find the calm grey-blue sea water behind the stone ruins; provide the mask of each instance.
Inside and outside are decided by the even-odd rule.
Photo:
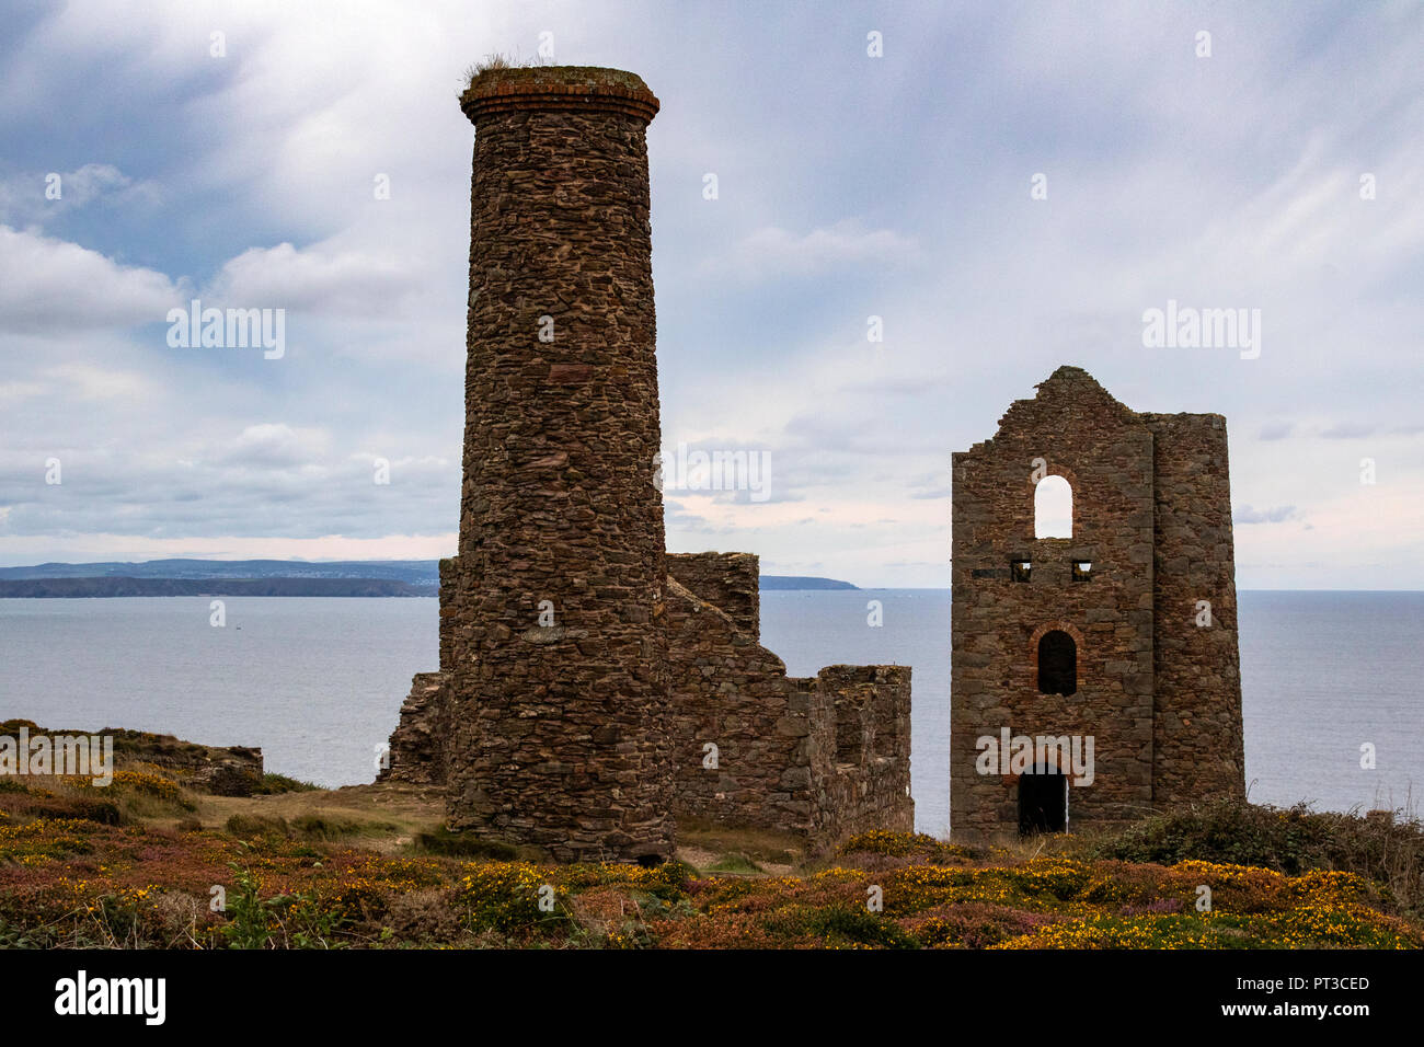
[[[880,600],[884,625],[866,624]],[[0,600],[0,718],[259,745],[269,771],[367,782],[410,677],[437,667],[434,600]],[[1252,799],[1321,809],[1424,798],[1424,593],[1242,593]],[[914,667],[918,828],[948,825],[950,595],[762,594],[762,640],[793,675]],[[1373,742],[1377,768],[1360,768]]]

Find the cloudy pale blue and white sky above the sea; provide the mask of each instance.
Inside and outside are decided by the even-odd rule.
[[[1242,587],[1424,588],[1424,6],[6,7],[0,564],[453,553],[456,95],[543,41],[662,101],[665,447],[769,454],[671,550],[946,585],[950,453],[1075,363],[1227,417]],[[169,346],[192,298],[285,355]]]

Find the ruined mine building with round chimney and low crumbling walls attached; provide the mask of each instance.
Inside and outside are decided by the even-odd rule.
[[[678,818],[910,829],[910,670],[789,678],[758,561],[668,556],[645,132],[607,68],[491,68],[473,121],[464,483],[440,670],[386,779],[558,860],[669,858]],[[711,746],[711,748],[709,748]]]

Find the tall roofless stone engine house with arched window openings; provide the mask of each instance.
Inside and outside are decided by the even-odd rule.
[[[1242,788],[1225,423],[1199,422],[1213,417],[1141,416],[1085,370],[1059,368],[1005,412],[993,440],[954,454],[957,838],[1017,830],[1018,776],[977,762],[978,738],[1002,728],[1094,738],[1094,781],[1069,786],[1069,825],[1135,818],[1196,788]],[[1071,538],[1034,536],[1044,474],[1072,487]],[[1031,563],[1028,581],[1015,580],[1015,561]],[[1087,578],[1075,563],[1091,564]],[[1192,624],[1195,588],[1218,594],[1229,627],[1178,628]],[[1038,691],[1038,641],[1051,630],[1074,638],[1075,694]],[[1193,768],[1199,759],[1209,766]]]

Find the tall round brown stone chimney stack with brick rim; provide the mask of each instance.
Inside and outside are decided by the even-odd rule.
[[[631,73],[496,68],[474,123],[449,821],[558,860],[672,855],[645,131]]]

